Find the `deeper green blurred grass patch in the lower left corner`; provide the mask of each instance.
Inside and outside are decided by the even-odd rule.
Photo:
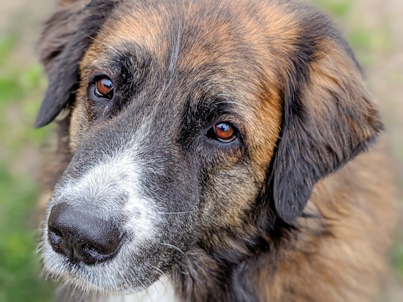
[[[0,166],[0,301],[34,302],[49,299],[51,284],[40,277],[38,225],[32,207],[38,188],[29,178],[15,176],[7,166]]]

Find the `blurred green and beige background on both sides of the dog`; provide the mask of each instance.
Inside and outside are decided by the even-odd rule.
[[[305,0],[331,15],[355,50],[378,99],[403,187],[403,1]],[[35,42],[53,0],[2,0],[0,10],[0,302],[50,300],[40,274],[38,170],[51,126],[34,129],[46,88]],[[403,210],[391,273],[378,301],[403,301]]]

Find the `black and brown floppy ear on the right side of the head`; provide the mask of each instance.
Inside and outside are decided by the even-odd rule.
[[[287,223],[302,214],[319,179],[368,148],[382,130],[345,42],[323,39],[304,50],[289,72],[281,138],[269,176],[268,190]]]

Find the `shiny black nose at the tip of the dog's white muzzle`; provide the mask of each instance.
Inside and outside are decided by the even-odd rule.
[[[48,240],[52,249],[70,262],[94,264],[116,254],[121,234],[113,223],[61,202],[50,211]]]

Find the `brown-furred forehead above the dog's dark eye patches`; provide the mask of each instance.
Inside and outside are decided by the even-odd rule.
[[[232,80],[264,70],[274,80],[281,57],[295,50],[294,17],[287,4],[264,1],[120,1],[91,48],[100,53],[135,42],[168,64],[177,55],[178,68],[227,68]]]

